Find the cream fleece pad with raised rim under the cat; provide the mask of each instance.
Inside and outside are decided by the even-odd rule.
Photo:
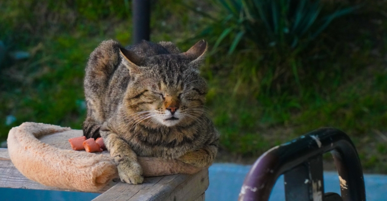
[[[71,149],[68,139],[82,136],[71,130],[41,123],[23,123],[8,134],[8,151],[15,167],[27,178],[65,189],[95,192],[118,177],[109,152],[87,153]],[[200,169],[176,160],[139,157],[144,176],[193,174]]]

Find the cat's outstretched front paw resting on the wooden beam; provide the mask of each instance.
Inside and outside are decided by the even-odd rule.
[[[117,168],[122,182],[140,184],[144,181],[142,167],[137,162],[122,162]]]

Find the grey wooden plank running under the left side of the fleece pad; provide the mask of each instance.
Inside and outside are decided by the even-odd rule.
[[[102,190],[98,191],[103,193],[109,188],[114,186],[117,182],[112,181]],[[32,181],[25,177],[12,163],[8,154],[8,149],[0,148],[0,187],[2,188],[26,188],[37,190],[65,190],[75,191],[63,188],[56,188],[51,186],[45,186],[38,182]]]

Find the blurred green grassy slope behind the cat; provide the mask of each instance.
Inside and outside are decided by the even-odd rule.
[[[0,2],[0,40],[9,53],[31,54],[0,64],[0,139],[27,121],[80,129],[87,57],[105,39],[130,44],[131,5],[21,2]],[[207,3],[157,4],[151,39],[175,42],[182,50],[194,44],[192,38],[208,21],[185,5],[209,12]],[[387,136],[387,17],[382,8],[387,3],[366,5],[338,19],[295,57],[268,56],[248,46],[227,55],[227,44],[209,55],[202,74],[209,83],[207,106],[221,133],[222,152],[255,158],[314,129],[336,127],[353,140],[365,171],[387,173],[382,137]],[[207,40],[211,46],[216,37]],[[10,116],[16,121],[6,125]]]

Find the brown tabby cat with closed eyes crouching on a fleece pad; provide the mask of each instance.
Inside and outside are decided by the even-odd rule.
[[[204,109],[207,84],[199,68],[207,42],[181,53],[171,42],[123,48],[102,42],[86,66],[83,134],[102,136],[123,182],[143,182],[137,156],[211,165],[219,134]]]

